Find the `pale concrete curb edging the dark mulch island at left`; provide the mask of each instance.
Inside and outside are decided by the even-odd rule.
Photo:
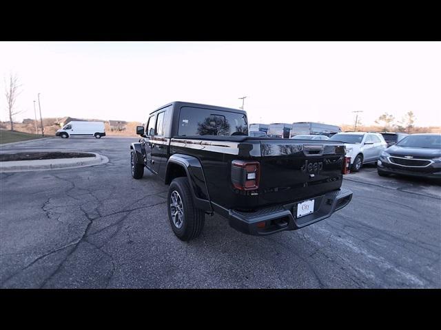
[[[94,157],[20,160],[17,162],[0,162],[0,173],[27,172],[30,170],[61,170],[105,164],[109,159],[98,153]]]

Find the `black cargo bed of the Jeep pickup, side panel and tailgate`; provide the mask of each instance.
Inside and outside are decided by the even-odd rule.
[[[256,210],[338,190],[345,146],[328,140],[202,135],[173,137],[170,152],[198,157],[212,201],[235,210]],[[253,195],[232,186],[231,164],[237,159],[260,164],[260,184]]]

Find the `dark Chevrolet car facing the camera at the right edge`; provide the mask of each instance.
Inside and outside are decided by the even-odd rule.
[[[441,134],[412,134],[382,152],[378,175],[441,179]]]

